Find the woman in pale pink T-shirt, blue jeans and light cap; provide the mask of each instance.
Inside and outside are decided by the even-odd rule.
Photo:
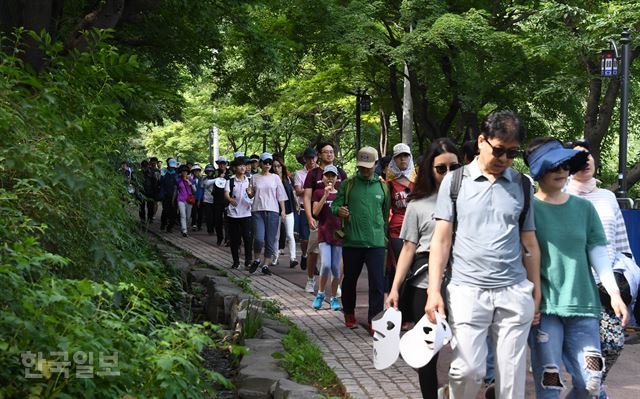
[[[264,247],[262,262],[262,274],[271,275],[269,264],[276,253],[276,232],[280,222],[286,220],[284,202],[287,193],[282,185],[282,180],[269,173],[273,164],[273,155],[263,152],[260,155],[260,168],[262,172],[251,177],[251,184],[247,188],[249,198],[253,199],[251,206],[251,218],[253,223],[253,263],[249,267],[249,273],[255,273],[260,264],[260,255]]]

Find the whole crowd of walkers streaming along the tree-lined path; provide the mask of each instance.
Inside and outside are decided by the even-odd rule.
[[[342,310],[348,328],[366,265],[370,331],[385,307],[407,326],[438,312],[453,330],[449,383],[439,387],[437,356],[418,370],[425,398],[472,399],[483,384],[487,397],[524,398],[527,347],[538,398],[560,397],[562,366],[568,397],[606,398],[623,327],[638,317],[640,269],[614,195],[597,187],[589,143],[538,138],[522,151],[524,142],[523,122],[499,111],[462,153],[447,138],[416,162],[403,143],[386,160],[364,147],[351,177],[331,143],[307,148],[295,172],[268,152],[220,157],[204,175],[151,158],[137,178],[139,215],[152,223],[161,202],[160,229],[179,221],[185,237],[204,223],[230,247],[231,268],[244,247],[251,274],[271,275],[288,246],[310,306]],[[511,167],[520,154],[528,175]]]

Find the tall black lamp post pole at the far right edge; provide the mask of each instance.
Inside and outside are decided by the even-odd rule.
[[[620,35],[622,44],[622,82],[620,86],[620,156],[618,161],[618,198],[627,197],[627,126],[629,124],[629,67],[631,63],[631,33],[625,27]]]

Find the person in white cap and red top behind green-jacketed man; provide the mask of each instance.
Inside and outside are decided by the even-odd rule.
[[[396,263],[400,256],[403,240],[400,238],[400,229],[407,210],[407,197],[413,190],[415,182],[413,157],[411,149],[404,143],[398,143],[393,147],[393,158],[387,167],[385,180],[389,185],[391,194],[391,217],[389,219],[389,249],[387,273],[385,273],[385,292],[388,293],[393,284]]]

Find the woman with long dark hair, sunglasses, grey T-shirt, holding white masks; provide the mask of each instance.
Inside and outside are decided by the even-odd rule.
[[[387,306],[403,307],[407,320],[417,323],[424,315],[427,303],[428,273],[423,272],[405,283],[400,303],[399,289],[409,269],[417,270],[429,260],[429,245],[435,228],[433,212],[436,208],[438,188],[444,176],[462,165],[460,153],[447,138],[435,140],[418,167],[418,175],[404,215],[400,238],[404,241],[396,265],[396,275],[387,298]],[[412,267],[412,265],[414,265]],[[438,377],[436,364],[438,355],[418,370],[420,390],[423,398],[438,397]]]

